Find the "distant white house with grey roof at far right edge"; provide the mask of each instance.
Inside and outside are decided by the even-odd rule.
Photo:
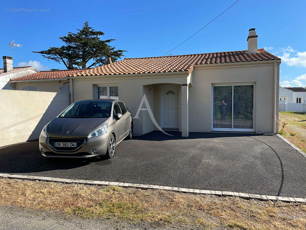
[[[279,100],[286,103],[304,103],[306,89],[303,87],[281,87],[279,86]]]

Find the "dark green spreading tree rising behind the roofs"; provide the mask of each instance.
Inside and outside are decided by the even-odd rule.
[[[126,52],[115,50],[115,47],[109,45],[115,39],[101,40],[100,36],[104,33],[89,27],[87,21],[82,29],[77,30],[77,33],[68,32],[67,36],[59,37],[65,43],[62,47],[50,47],[47,50],[32,52],[57,63],[64,63],[67,69],[105,65],[108,57],[115,62],[123,56],[123,52]]]

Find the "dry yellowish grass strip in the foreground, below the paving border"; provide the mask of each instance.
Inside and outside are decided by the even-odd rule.
[[[202,229],[305,229],[306,205],[115,186],[0,179],[0,205]]]

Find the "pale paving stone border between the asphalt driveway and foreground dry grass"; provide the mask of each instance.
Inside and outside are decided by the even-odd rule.
[[[240,197],[242,199],[254,199],[260,201],[283,201],[283,202],[297,202],[297,203],[306,203],[306,198],[301,197],[279,197],[279,196],[268,196],[260,194],[251,194],[251,193],[237,193],[230,191],[216,191],[216,190],[202,190],[202,189],[187,189],[187,188],[178,188],[170,186],[159,186],[159,185],[144,185],[144,184],[134,184],[134,183],[124,183],[124,182],[110,182],[110,181],[90,181],[90,180],[70,180],[64,178],[53,178],[53,177],[39,177],[39,176],[26,176],[26,175],[15,175],[15,174],[6,174],[0,173],[0,178],[9,178],[9,179],[22,179],[22,180],[31,180],[31,181],[44,181],[44,182],[59,182],[65,184],[83,184],[83,185],[113,185],[121,186],[124,188],[138,188],[138,189],[159,189],[159,190],[168,190],[174,192],[182,193],[193,193],[193,194],[205,194],[205,195],[215,195],[215,196],[232,196]]]

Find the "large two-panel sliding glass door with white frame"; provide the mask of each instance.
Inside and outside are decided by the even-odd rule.
[[[253,84],[212,87],[211,130],[255,131]]]

